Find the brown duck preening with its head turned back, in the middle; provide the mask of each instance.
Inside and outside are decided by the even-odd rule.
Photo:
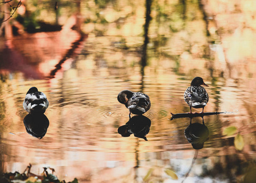
[[[142,92],[133,92],[130,90],[123,90],[117,96],[117,100],[135,115],[142,115],[150,109],[151,102],[149,96]]]

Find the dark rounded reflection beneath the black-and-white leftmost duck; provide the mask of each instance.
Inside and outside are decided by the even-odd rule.
[[[43,138],[49,126],[49,120],[44,114],[29,113],[23,119],[28,134],[39,139]]]

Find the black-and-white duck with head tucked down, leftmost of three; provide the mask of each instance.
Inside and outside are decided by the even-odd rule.
[[[42,114],[48,108],[49,102],[46,95],[38,91],[36,87],[31,87],[26,93],[23,108],[31,114]]]

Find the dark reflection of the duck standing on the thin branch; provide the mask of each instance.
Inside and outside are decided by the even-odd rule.
[[[203,119],[203,118],[202,118]],[[209,139],[209,130],[203,124],[200,123],[191,123],[192,118],[190,119],[190,124],[186,127],[184,134],[189,143],[191,143],[194,149],[202,149],[205,141]]]

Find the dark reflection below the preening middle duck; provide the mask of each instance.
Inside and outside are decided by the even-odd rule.
[[[150,131],[150,126],[151,120],[149,118],[144,117],[143,115],[136,115],[130,118],[125,125],[120,126],[118,132],[122,137],[130,137],[130,135],[133,134],[134,137],[147,140],[145,135]]]

